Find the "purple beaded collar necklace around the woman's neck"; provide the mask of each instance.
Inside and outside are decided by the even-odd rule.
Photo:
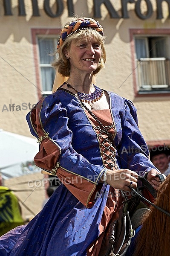
[[[79,99],[81,100],[81,102],[87,102],[91,109],[93,109],[93,104],[94,102],[98,101],[99,99],[101,99],[101,97],[104,94],[104,91],[97,87],[95,84],[93,84],[93,86],[95,87],[95,91],[94,93],[81,93],[78,92],[74,87],[72,87],[67,81],[64,82],[64,84],[67,85],[67,87],[72,88],[73,90],[75,90],[75,92],[78,94]]]

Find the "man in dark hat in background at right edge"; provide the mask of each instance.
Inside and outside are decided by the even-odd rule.
[[[156,145],[150,148],[150,160],[164,175],[170,174],[170,147]]]

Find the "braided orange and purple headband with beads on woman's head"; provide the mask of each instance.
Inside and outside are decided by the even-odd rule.
[[[58,39],[57,49],[61,47],[61,45],[69,35],[72,35],[75,32],[78,32],[84,29],[95,29],[101,35],[104,35],[103,28],[98,21],[95,21],[91,18],[90,19],[79,18],[78,20],[70,22],[69,25],[64,26],[64,28],[61,30],[61,35]]]

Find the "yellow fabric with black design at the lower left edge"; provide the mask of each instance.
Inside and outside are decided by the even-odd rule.
[[[17,197],[9,188],[0,186],[0,236],[24,224]]]

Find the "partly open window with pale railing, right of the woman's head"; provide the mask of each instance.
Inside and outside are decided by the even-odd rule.
[[[169,36],[135,35],[138,93],[170,92]]]

